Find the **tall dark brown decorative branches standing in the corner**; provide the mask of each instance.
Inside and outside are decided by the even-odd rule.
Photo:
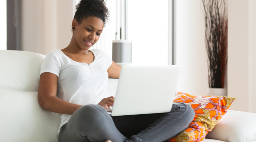
[[[209,88],[224,88],[227,68],[227,14],[225,0],[202,0]]]

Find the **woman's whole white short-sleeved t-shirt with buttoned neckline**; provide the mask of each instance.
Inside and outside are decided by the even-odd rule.
[[[94,54],[94,61],[87,63],[75,62],[61,50],[49,52],[41,65],[40,75],[50,72],[57,75],[57,96],[64,101],[78,105],[98,104],[107,98],[108,68],[112,59],[102,50],[90,50]],[[71,115],[61,115],[61,127],[66,124]]]

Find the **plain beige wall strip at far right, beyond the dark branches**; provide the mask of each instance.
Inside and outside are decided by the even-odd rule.
[[[228,96],[230,109],[256,113],[256,2],[228,2]]]

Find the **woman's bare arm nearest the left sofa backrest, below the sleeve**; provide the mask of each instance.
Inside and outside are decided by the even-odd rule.
[[[66,102],[57,94],[58,76],[50,72],[44,72],[40,76],[38,88],[38,101],[40,106],[47,111],[59,114],[73,114],[81,105]]]

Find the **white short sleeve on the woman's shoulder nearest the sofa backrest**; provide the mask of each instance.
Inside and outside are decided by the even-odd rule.
[[[50,72],[59,76],[61,71],[61,63],[57,60],[53,53],[48,53],[41,65],[40,75],[44,72]]]

